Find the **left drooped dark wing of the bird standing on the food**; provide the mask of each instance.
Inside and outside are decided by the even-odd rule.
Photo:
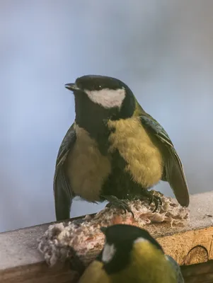
[[[71,201],[74,197],[71,192],[69,180],[64,172],[64,162],[75,141],[76,132],[73,124],[68,129],[67,134],[65,134],[62,144],[59,147],[54,171],[54,208],[57,221],[69,219]]]

